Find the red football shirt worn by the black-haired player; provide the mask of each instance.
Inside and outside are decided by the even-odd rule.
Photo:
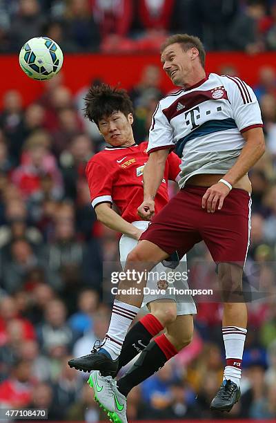
[[[87,164],[86,178],[92,206],[115,203],[121,217],[132,223],[141,220],[137,207],[144,200],[143,171],[148,154],[148,142],[132,147],[106,147],[95,154]],[[164,178],[155,196],[155,213],[168,203],[168,180],[176,180],[181,160],[170,153]]]

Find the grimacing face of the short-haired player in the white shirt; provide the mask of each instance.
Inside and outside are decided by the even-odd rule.
[[[165,48],[161,54],[161,63],[173,84],[179,86],[185,85],[187,76],[193,72],[195,54],[198,55],[196,48],[190,48],[184,51],[178,43],[171,44]]]

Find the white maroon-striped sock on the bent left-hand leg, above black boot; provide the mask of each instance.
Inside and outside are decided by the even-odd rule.
[[[128,328],[139,310],[139,307],[130,306],[130,304],[123,303],[119,300],[114,301],[110,325],[104,344],[102,344],[103,348],[110,354],[112,360],[119,357],[126,332],[128,332]]]

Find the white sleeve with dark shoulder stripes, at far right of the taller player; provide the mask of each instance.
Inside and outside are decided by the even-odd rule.
[[[262,115],[253,89],[238,77],[228,76],[228,97],[239,131],[262,127]]]

